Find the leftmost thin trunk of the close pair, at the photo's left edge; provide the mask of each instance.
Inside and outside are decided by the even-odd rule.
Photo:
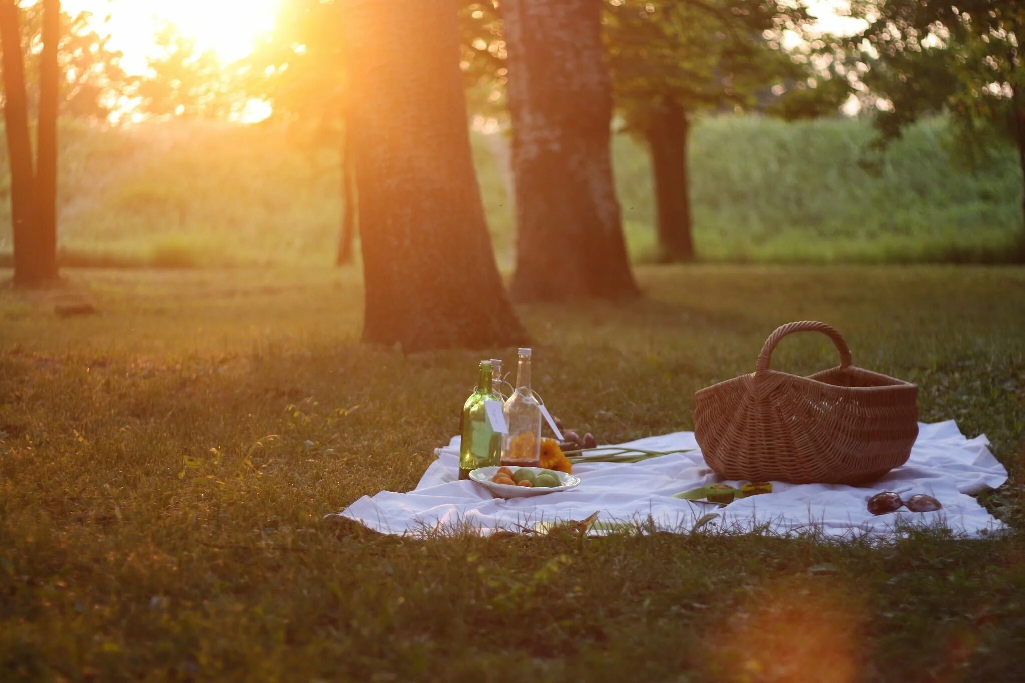
[[[14,247],[14,284],[32,285],[36,273],[35,206],[29,103],[25,93],[25,64],[18,8],[14,0],[0,0],[0,45],[3,49],[4,126],[10,165],[11,241]]]

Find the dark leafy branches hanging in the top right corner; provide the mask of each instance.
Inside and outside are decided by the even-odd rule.
[[[1025,154],[1025,6],[989,0],[857,2],[871,19],[852,40],[861,76],[883,99],[893,138],[921,116],[949,113],[958,156],[978,163],[1001,136]]]

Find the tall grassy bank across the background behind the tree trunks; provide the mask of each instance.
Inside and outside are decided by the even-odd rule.
[[[951,165],[942,121],[872,156],[865,121],[707,118],[691,142],[695,242],[711,262],[1004,263],[1021,258],[1021,171],[1009,148]],[[69,265],[329,265],[341,200],[337,151],[276,125],[154,123],[61,135],[60,244]],[[614,140],[634,260],[656,256],[646,151]],[[507,139],[474,134],[502,265],[514,223]],[[864,162],[872,162],[866,167]],[[0,199],[8,180],[0,155]],[[0,253],[10,249],[0,201]]]

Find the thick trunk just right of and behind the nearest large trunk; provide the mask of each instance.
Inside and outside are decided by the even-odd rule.
[[[520,300],[638,292],[612,182],[598,0],[508,0]]]

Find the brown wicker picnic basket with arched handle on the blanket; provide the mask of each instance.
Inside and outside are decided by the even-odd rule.
[[[839,366],[801,377],[769,369],[791,332],[821,332]],[[851,365],[844,337],[820,322],[783,325],[754,372],[695,394],[694,431],[705,461],[727,479],[862,484],[907,461],[918,436],[918,388]]]

